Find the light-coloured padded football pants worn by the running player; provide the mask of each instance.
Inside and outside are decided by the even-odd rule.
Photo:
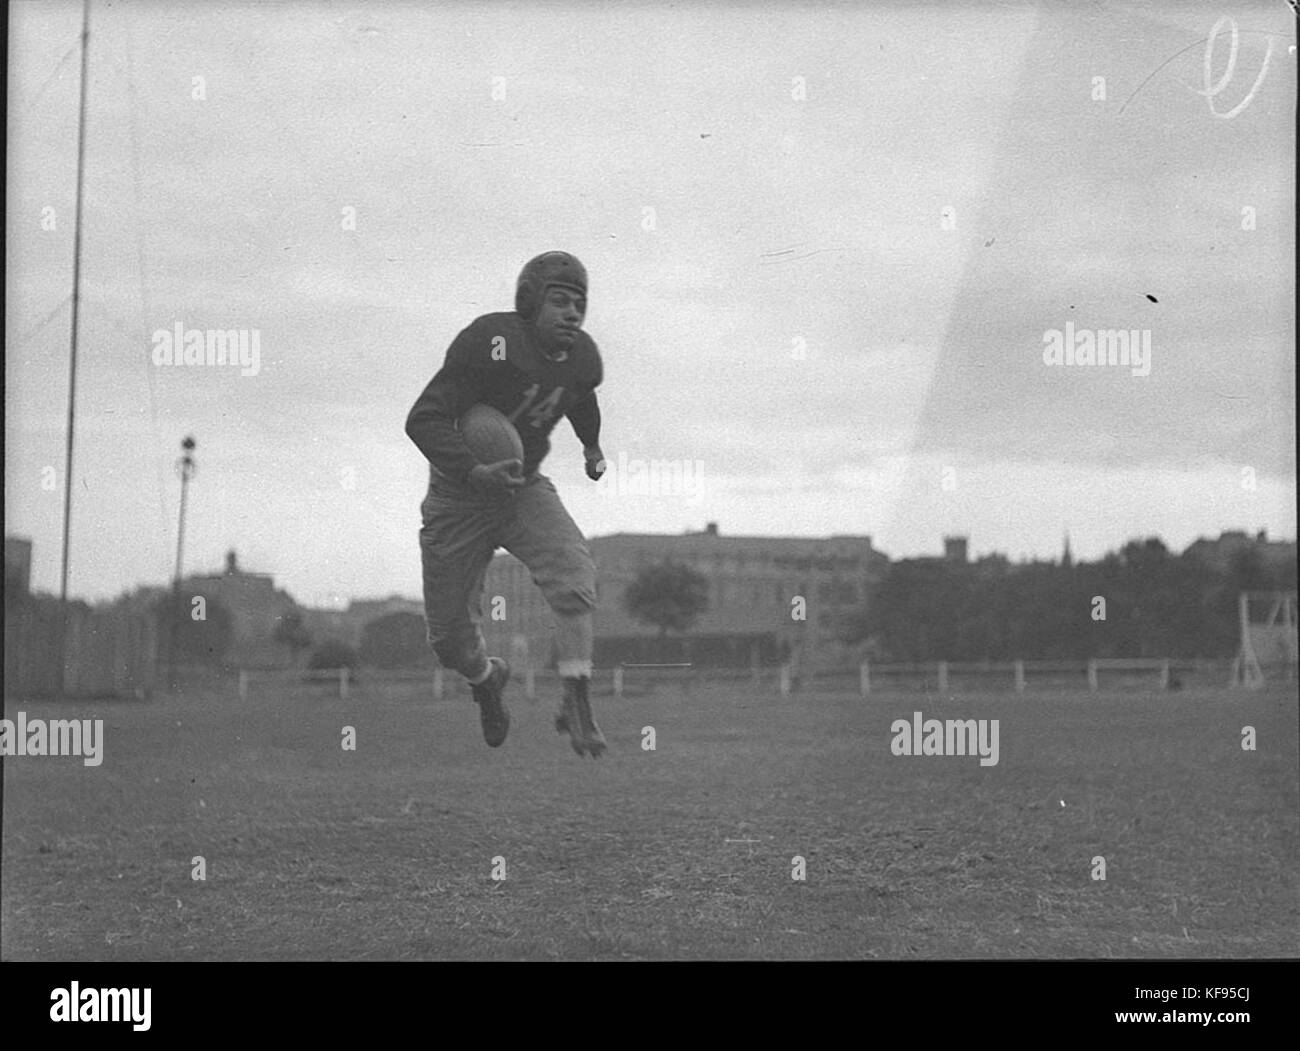
[[[434,473],[420,514],[424,615],[445,667],[477,678],[486,666],[482,589],[497,548],[523,562],[542,589],[559,659],[590,662],[595,563],[549,477],[534,473],[519,489],[493,493]]]

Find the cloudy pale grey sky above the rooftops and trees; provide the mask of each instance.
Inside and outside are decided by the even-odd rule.
[[[47,591],[79,23],[10,7],[5,532]],[[1280,3],[92,0],[69,591],[170,578],[192,434],[188,572],[417,597],[406,415],[551,248],[604,362],[612,471],[567,421],[543,466],[588,536],[1294,539],[1295,40]],[[178,324],[259,359],[157,364]],[[1049,360],[1109,330],[1149,356]]]

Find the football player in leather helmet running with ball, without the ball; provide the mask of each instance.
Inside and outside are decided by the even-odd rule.
[[[592,611],[595,563],[551,480],[538,473],[564,416],[582,444],[586,475],[604,473],[595,389],[601,354],[582,332],[586,271],[568,252],[545,252],[519,274],[515,310],[476,319],[407,416],[407,436],[429,460],[420,507],[420,553],[429,644],[459,671],[478,704],[484,739],[506,740],[510,665],[489,657],[478,627],[484,578],[497,548],[528,566],[555,615],[564,697],[555,728],[580,756],[598,757],[604,735],[592,717]],[[469,406],[503,412],[524,445],[523,462],[480,464],[456,429]]]

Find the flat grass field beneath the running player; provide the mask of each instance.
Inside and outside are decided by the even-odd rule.
[[[870,700],[666,688],[599,701],[599,762],[554,732],[549,693],[533,705],[512,691],[510,740],[491,751],[468,695],[448,692],[10,698],[9,718],[103,718],[105,744],[99,767],[5,760],[0,955],[1300,953],[1294,687]],[[893,756],[890,723],[915,710],[1000,719],[997,766]],[[1097,855],[1104,882],[1089,875]]]

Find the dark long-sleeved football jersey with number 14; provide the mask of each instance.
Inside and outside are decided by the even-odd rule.
[[[456,431],[456,420],[482,402],[503,412],[524,440],[524,473],[550,451],[550,433],[568,416],[584,446],[601,440],[595,388],[601,353],[578,332],[563,360],[542,354],[529,325],[517,313],[485,313],[464,329],[446,360],[407,416],[407,434],[433,470],[464,483],[478,462]]]

